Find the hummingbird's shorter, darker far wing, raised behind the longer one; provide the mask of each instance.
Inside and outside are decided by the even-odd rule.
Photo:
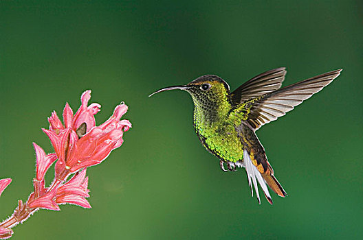
[[[281,88],[285,75],[285,67],[272,69],[256,75],[256,77],[248,80],[233,91],[231,94],[232,104],[238,105],[253,97],[259,97]]]

